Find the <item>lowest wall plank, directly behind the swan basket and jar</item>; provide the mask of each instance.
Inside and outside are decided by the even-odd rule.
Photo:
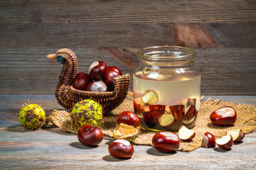
[[[78,56],[79,72],[87,72],[92,62],[104,60],[121,68],[123,74],[132,75],[138,61],[134,48],[114,48],[114,52],[110,47],[105,48],[109,50],[71,49]],[[0,94],[54,94],[62,65],[49,64],[46,55],[56,50],[58,48],[1,48]],[[201,94],[256,95],[255,49],[207,48],[196,51],[196,63],[202,74]],[[132,80],[129,90],[132,90]]]

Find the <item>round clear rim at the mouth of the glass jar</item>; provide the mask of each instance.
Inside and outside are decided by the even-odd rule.
[[[165,52],[161,50],[166,50]],[[154,54],[165,53],[165,55],[154,55]],[[168,53],[168,55],[166,55]],[[179,54],[178,54],[179,53]],[[184,54],[183,54],[184,53]],[[184,60],[195,60],[196,59],[196,51],[181,46],[152,46],[152,47],[144,47],[138,51],[140,57],[146,57],[148,60],[168,60],[168,61],[184,61]],[[172,55],[170,55],[172,54]]]

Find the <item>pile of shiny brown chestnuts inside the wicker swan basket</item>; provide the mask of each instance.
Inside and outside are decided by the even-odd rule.
[[[105,92],[114,91],[114,77],[119,77],[122,72],[114,66],[107,66],[106,62],[93,62],[88,74],[80,72],[73,80],[73,87],[81,91]]]

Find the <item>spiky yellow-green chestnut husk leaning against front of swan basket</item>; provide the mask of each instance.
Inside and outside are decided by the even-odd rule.
[[[75,104],[71,111],[72,125],[81,128],[83,125],[97,127],[103,118],[102,106],[92,99],[85,99]]]

